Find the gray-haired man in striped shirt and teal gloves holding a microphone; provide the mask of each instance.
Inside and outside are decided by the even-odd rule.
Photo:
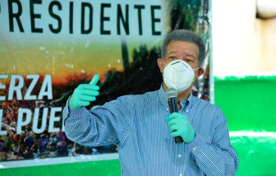
[[[163,73],[178,59],[195,69],[202,66],[205,45],[187,30],[169,33],[157,59]],[[195,79],[204,69],[195,70]],[[160,89],[143,95],[117,98],[87,110],[99,95],[95,75],[81,84],[63,110],[68,139],[85,146],[119,143],[121,175],[234,175],[239,159],[229,141],[226,119],[218,106],[192,95],[191,86],[177,96],[179,113],[170,114],[163,82]],[[183,143],[175,144],[174,136]]]

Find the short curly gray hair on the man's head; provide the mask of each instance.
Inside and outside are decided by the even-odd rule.
[[[198,34],[185,29],[179,29],[179,30],[172,31],[171,33],[168,33],[165,37],[165,40],[161,48],[162,59],[164,59],[166,55],[168,44],[172,41],[183,41],[183,42],[190,42],[190,43],[196,44],[199,48],[199,57],[198,57],[199,66],[202,66],[205,59],[205,44],[202,38]]]

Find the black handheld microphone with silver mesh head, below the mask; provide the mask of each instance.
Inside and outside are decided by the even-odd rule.
[[[166,91],[166,97],[168,98],[170,113],[178,113],[177,91],[174,88],[169,88]],[[183,142],[183,139],[180,136],[176,136],[174,137],[174,142],[176,144],[181,144]]]

